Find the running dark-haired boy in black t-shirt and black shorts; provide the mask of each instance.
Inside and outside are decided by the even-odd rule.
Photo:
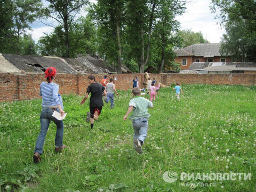
[[[91,122],[91,129],[93,128],[94,119],[97,120],[102,110],[103,101],[102,96],[107,95],[105,88],[95,81],[95,77],[90,75],[88,77],[89,86],[87,87],[86,95],[84,99],[81,101],[80,105],[84,103],[84,101],[88,98],[89,94],[91,93],[90,97],[90,112],[87,112],[86,122]],[[103,92],[103,94],[102,94]]]

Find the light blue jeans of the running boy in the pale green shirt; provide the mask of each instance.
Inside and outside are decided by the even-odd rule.
[[[138,139],[144,143],[144,140],[147,137],[148,119],[139,118],[136,120],[132,120],[132,125],[134,129],[133,139]]]

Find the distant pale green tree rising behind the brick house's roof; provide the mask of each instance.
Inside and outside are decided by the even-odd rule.
[[[176,34],[181,39],[181,45],[177,48],[184,48],[195,43],[209,43],[204,39],[202,32],[193,32],[190,29],[180,30]]]

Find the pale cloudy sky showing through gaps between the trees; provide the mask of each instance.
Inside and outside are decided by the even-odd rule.
[[[182,16],[176,17],[181,24],[181,29],[190,29],[193,32],[202,32],[204,39],[210,43],[219,43],[225,29],[221,29],[218,20],[214,18],[216,14],[211,13],[209,8],[211,0],[189,0],[186,4],[186,11]],[[53,23],[57,25],[57,23]],[[44,25],[41,21],[35,21],[31,24],[32,38],[36,41],[44,36],[44,33],[50,34],[53,27]]]

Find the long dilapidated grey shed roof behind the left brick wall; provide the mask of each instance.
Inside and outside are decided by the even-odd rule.
[[[42,73],[50,66],[54,66],[59,73],[102,74],[113,73],[115,71],[112,67],[107,66],[104,60],[89,55],[78,58],[61,58],[3,54],[2,60],[9,62],[10,66],[8,68],[17,68],[17,70],[24,70],[25,72]],[[1,66],[3,65],[2,63],[3,61],[0,60]],[[1,70],[0,68],[1,71],[5,72],[6,69]],[[132,73],[125,66],[122,66],[122,72]]]

